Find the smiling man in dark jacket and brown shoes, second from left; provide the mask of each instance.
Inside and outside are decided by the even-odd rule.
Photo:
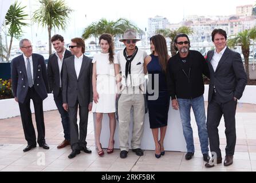
[[[56,53],[51,54],[48,59],[48,81],[50,92],[53,92],[53,98],[61,114],[61,123],[64,129],[65,140],[57,146],[58,149],[64,148],[70,144],[70,127],[68,112],[62,107],[62,63],[65,58],[72,56],[69,50],[64,47],[64,38],[61,35],[54,35],[51,40]]]

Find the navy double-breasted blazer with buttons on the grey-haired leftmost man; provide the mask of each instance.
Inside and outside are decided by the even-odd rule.
[[[49,92],[45,59],[42,55],[35,53],[32,54],[32,59],[34,89],[44,100]],[[23,103],[29,89],[23,54],[11,61],[11,81],[13,96],[18,97],[18,101]]]

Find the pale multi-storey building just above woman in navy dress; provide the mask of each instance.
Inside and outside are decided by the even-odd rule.
[[[156,30],[166,29],[170,25],[169,21],[165,17],[156,15],[154,18],[148,18],[148,36],[155,35]]]

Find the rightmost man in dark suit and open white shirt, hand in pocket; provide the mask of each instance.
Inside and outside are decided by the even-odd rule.
[[[212,42],[215,50],[208,51],[207,61],[210,70],[210,85],[208,92],[207,130],[211,152],[216,153],[216,163],[222,163],[222,155],[219,149],[218,126],[222,115],[225,120],[226,156],[224,165],[233,164],[235,152],[235,110],[237,100],[242,97],[247,76],[243,67],[241,55],[226,46],[227,34],[225,30],[214,29]],[[206,167],[214,166],[212,161]]]

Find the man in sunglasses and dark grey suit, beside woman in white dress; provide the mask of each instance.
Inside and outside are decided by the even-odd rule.
[[[69,45],[72,57],[64,59],[62,76],[63,108],[69,112],[70,144],[72,153],[69,158],[80,154],[92,153],[86,148],[88,112],[92,110],[92,59],[84,55],[85,43],[81,38],[71,39]],[[77,108],[79,106],[79,133]]]

